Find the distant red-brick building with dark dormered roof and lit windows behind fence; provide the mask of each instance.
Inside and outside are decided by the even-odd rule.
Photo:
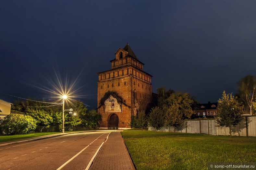
[[[208,103],[199,104],[196,118],[214,118],[214,116],[218,114],[217,106],[218,103],[211,103],[210,101],[208,101]]]

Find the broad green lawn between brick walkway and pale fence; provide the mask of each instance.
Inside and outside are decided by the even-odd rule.
[[[256,162],[256,137],[152,131],[121,132],[143,169],[207,169],[208,162]]]

